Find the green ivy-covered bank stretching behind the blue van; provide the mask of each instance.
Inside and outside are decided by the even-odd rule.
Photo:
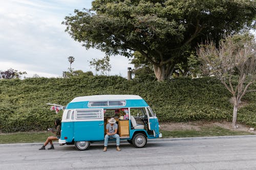
[[[254,86],[255,87],[255,86]],[[67,105],[76,96],[137,94],[155,110],[160,122],[231,120],[231,95],[215,78],[178,78],[166,82],[118,76],[84,78],[28,78],[0,80],[0,131],[34,131],[53,127],[55,114],[46,103]],[[241,123],[256,126],[256,94],[245,96],[239,109]]]

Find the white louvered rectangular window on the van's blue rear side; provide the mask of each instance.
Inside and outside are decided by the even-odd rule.
[[[77,110],[77,119],[98,119],[102,118],[102,111],[100,110]]]

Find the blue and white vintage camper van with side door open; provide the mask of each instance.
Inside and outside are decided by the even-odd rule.
[[[145,147],[147,139],[162,137],[156,114],[140,96],[91,95],[77,97],[66,106],[59,143],[88,150],[90,142],[104,141],[111,117],[118,124],[120,140],[127,140],[136,148]]]

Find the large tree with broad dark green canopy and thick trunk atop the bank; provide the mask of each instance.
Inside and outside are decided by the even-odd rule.
[[[92,9],[66,16],[66,31],[86,48],[131,57],[139,52],[159,81],[206,38],[250,27],[255,4],[223,0],[95,0]]]

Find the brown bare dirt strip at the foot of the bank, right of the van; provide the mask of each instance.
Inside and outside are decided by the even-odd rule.
[[[219,126],[224,129],[232,130],[232,131],[244,131],[251,132],[256,134],[256,131],[249,130],[250,127],[238,124],[237,129],[232,128],[232,123],[230,122],[203,122],[203,121],[195,121],[195,122],[170,122],[170,123],[160,123],[160,129],[166,131],[177,131],[177,130],[196,130],[199,131],[202,127],[212,127]]]

